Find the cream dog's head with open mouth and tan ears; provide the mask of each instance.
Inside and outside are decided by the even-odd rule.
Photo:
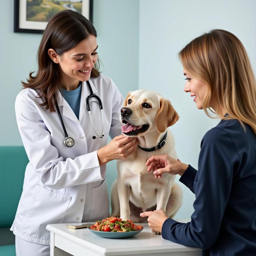
[[[120,121],[125,124],[122,131],[129,137],[139,137],[148,132],[162,133],[178,119],[169,100],[145,90],[129,92],[120,113]]]

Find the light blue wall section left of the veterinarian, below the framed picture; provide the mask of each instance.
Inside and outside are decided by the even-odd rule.
[[[20,80],[25,80],[31,70],[36,71],[36,51],[41,36],[13,33],[14,1],[1,0],[1,134],[0,145],[22,145],[16,124],[14,102],[21,89]]]

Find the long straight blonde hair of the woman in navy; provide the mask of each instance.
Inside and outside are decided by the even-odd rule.
[[[220,119],[237,119],[243,127],[243,122],[250,125],[256,134],[256,81],[240,40],[228,31],[214,29],[192,40],[179,57],[190,75],[209,86],[203,99],[206,115],[214,118],[209,109]],[[209,108],[210,100],[215,112]],[[221,108],[228,116],[221,116]]]

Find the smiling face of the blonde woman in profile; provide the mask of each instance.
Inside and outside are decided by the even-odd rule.
[[[183,68],[183,74],[186,76],[185,80],[185,92],[190,92],[191,97],[194,98],[196,102],[196,107],[198,109],[203,109],[203,99],[208,91],[208,85],[201,80],[196,79],[195,77],[191,76],[185,68]]]

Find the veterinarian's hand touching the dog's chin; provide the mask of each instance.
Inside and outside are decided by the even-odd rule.
[[[100,166],[111,160],[125,159],[137,149],[139,140],[124,134],[116,136],[108,145],[97,150]]]

